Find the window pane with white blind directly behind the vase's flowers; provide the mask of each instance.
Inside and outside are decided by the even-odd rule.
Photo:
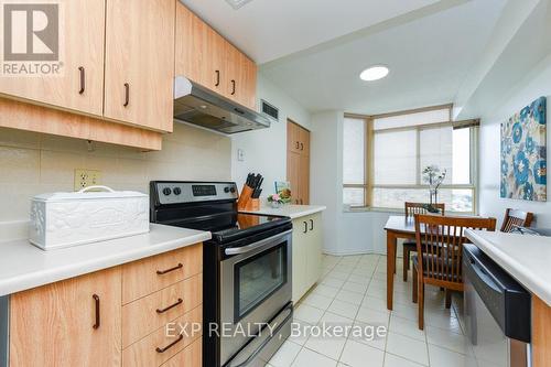
[[[419,131],[420,183],[423,180],[423,170],[429,165],[436,165],[441,172],[446,171],[444,185],[452,182],[453,172],[453,129],[451,126],[442,128],[422,129]]]

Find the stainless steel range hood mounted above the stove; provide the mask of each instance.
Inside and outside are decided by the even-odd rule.
[[[229,134],[269,128],[271,118],[177,76],[174,79],[174,120]]]

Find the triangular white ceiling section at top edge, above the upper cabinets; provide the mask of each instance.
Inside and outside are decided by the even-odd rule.
[[[437,0],[181,0],[258,64],[408,13]],[[486,1],[486,0],[482,0]]]

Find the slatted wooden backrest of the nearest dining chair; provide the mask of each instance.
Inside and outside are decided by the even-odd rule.
[[[462,255],[465,229],[496,230],[496,218],[415,215],[419,267],[424,278],[463,283]],[[425,255],[424,260],[423,253]]]

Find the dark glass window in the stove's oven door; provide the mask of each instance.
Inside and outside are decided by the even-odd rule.
[[[237,263],[235,280],[237,321],[287,283],[287,242]]]

